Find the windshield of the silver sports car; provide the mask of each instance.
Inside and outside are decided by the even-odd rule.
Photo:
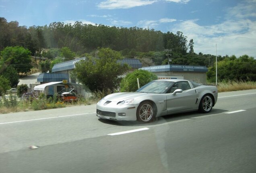
[[[167,80],[154,80],[144,85],[143,87],[138,89],[136,92],[163,94],[163,93],[166,93],[173,84],[174,82],[167,81]]]

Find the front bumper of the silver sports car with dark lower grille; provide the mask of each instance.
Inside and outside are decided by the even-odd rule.
[[[101,119],[118,120],[118,121],[136,121],[136,110],[138,105],[122,105],[117,103],[97,103],[96,115]]]

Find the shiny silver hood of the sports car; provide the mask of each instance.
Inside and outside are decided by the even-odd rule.
[[[128,99],[135,99],[136,97],[149,95],[148,93],[114,93],[111,95],[107,95],[104,97],[104,100],[106,101],[125,101]]]

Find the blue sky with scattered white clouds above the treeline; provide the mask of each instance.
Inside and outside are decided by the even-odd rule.
[[[181,31],[196,53],[256,58],[256,0],[0,0],[0,17]]]

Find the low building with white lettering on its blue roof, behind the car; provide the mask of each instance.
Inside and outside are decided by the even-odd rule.
[[[159,66],[147,66],[139,68],[155,73],[159,79],[176,78],[192,80],[199,83],[206,83],[206,66],[175,65],[166,64]]]

